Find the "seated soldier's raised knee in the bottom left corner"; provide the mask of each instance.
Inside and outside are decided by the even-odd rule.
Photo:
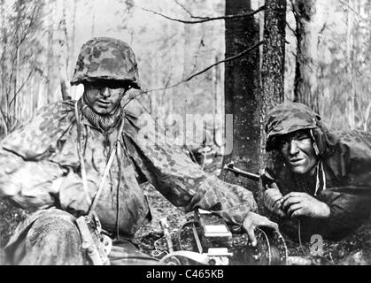
[[[62,210],[35,212],[17,241],[7,247],[12,264],[83,264],[81,237],[74,218]]]

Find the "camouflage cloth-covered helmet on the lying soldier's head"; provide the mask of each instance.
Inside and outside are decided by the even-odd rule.
[[[280,103],[267,113],[266,149],[275,149],[275,138],[304,129],[316,129],[321,120],[311,108],[302,103]]]

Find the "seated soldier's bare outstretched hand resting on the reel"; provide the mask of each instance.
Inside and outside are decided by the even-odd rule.
[[[250,241],[252,242],[252,246],[256,247],[258,241],[255,236],[255,228],[259,226],[265,226],[268,228],[272,228],[275,231],[278,231],[278,225],[268,218],[261,216],[257,213],[249,211],[246,215],[246,218],[243,220],[243,229],[247,232]]]

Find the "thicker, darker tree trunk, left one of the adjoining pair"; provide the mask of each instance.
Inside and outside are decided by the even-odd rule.
[[[251,11],[250,0],[227,0],[226,15]],[[259,24],[253,17],[226,19],[226,56],[233,57],[259,42]],[[259,49],[225,66],[226,149],[223,165],[233,161],[236,167],[259,172],[260,119],[259,119]],[[229,115],[229,116],[228,116]],[[233,116],[230,116],[233,115]],[[233,125],[228,123],[233,117]],[[233,135],[233,139],[232,139]],[[233,140],[233,141],[232,141]],[[233,142],[233,143],[232,143]],[[232,172],[223,171],[223,180],[258,191],[258,183]]]

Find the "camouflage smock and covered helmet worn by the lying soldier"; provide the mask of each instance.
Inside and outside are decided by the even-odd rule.
[[[321,117],[304,104],[282,103],[268,115],[267,149],[274,149],[274,137],[300,129],[313,131],[320,157],[316,173],[312,178],[295,176],[288,166],[277,165],[273,170],[276,182],[282,195],[304,192],[328,204],[328,219],[301,218],[303,239],[317,233],[337,240],[361,225],[371,211],[371,135],[329,131]],[[298,223],[282,221],[281,228],[297,238]]]

